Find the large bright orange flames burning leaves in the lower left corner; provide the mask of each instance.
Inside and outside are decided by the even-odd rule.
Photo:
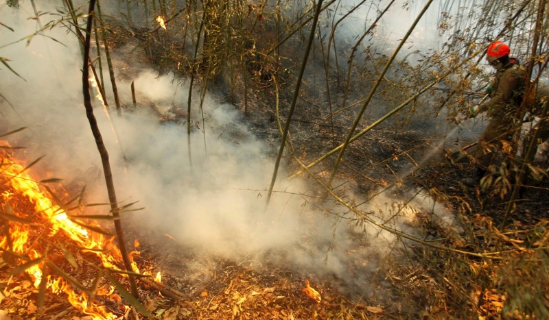
[[[65,234],[73,241],[73,245],[78,247],[82,252],[92,252],[99,257],[104,268],[119,270],[117,265],[121,264],[122,257],[119,248],[114,243],[114,237],[106,237],[104,234],[98,232],[89,232],[85,227],[71,220],[67,212],[59,205],[54,204],[47,193],[41,190],[38,183],[27,174],[28,170],[25,170],[21,164],[18,164],[6,152],[9,148],[7,142],[0,140],[0,173],[5,177],[3,184],[6,189],[0,195],[2,197],[0,206],[3,212],[10,215],[6,218],[8,220],[8,225],[6,225],[8,230],[4,230],[5,234],[0,234],[0,249],[12,251],[14,254],[21,256],[26,255],[32,261],[40,261],[39,263],[32,264],[32,266],[25,270],[33,278],[34,286],[37,288],[43,281],[46,281],[45,288],[55,294],[67,294],[68,301],[72,306],[84,314],[90,315],[93,319],[116,319],[117,316],[112,312],[108,312],[106,307],[98,306],[93,301],[89,301],[86,293],[77,293],[73,290],[71,284],[62,276],[54,278],[51,275],[47,275],[43,279],[43,270],[46,269],[46,265],[50,269],[52,266],[56,266],[51,264],[51,260],[47,256],[47,249],[44,253],[39,253],[37,251],[38,245],[36,245],[36,239],[31,239],[33,235],[36,236],[36,234],[33,234],[33,232],[36,232],[33,226],[44,225],[47,227],[48,232],[47,243],[57,243],[59,237],[56,235]],[[34,212],[25,212],[23,210],[24,204],[18,203],[14,195],[26,197],[34,206]],[[7,216],[7,214],[5,215]],[[35,223],[36,220],[38,220],[38,223]],[[56,237],[54,238],[54,236]],[[61,246],[64,245],[61,244]],[[64,253],[65,256],[70,255],[70,252],[66,248],[64,249]],[[139,252],[135,251],[135,255],[137,254]],[[65,258],[69,260],[69,258]],[[31,264],[30,262],[26,263]],[[137,264],[135,268],[135,271],[139,272]],[[127,277],[127,275],[125,276]],[[108,299],[113,300],[115,299],[115,297],[112,297],[115,295],[113,291],[114,288],[112,286],[103,289],[97,288],[95,295],[105,295]],[[124,306],[124,308],[127,309],[128,306]]]

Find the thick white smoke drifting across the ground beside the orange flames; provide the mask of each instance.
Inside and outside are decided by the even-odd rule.
[[[38,10],[55,12],[56,6],[48,3],[37,3]],[[36,173],[51,172],[73,190],[86,185],[86,201],[104,203],[102,164],[82,103],[80,46],[66,27],[36,35],[27,45],[27,36],[38,28],[29,19],[32,16],[27,1],[19,9],[0,3],[0,21],[14,29],[0,27],[0,56],[8,58],[10,67],[21,76],[4,66],[0,69],[0,133],[27,127],[8,140],[27,148],[28,162],[45,155]],[[40,23],[57,18],[45,14]],[[19,39],[23,40],[16,42]],[[121,99],[128,105],[132,80],[143,110],[148,110],[147,101],[161,112],[168,112],[172,104],[186,110],[188,83],[178,84],[172,75],[159,76],[152,69],[139,70],[132,79],[118,79]],[[149,111],[124,112],[119,118],[112,107],[109,120],[94,99],[118,201],[122,205],[139,201],[135,207],[144,208],[129,214],[131,225],[168,233],[182,245],[236,261],[283,252],[281,256],[292,264],[339,278],[347,278],[348,264],[356,259],[349,255],[351,247],[360,254],[383,254],[390,247],[395,239],[392,234],[378,236],[378,230],[369,230],[373,236],[359,232],[351,239],[345,223],[324,215],[325,205],[303,206],[309,198],[301,194],[311,194],[309,186],[299,179],[285,180],[283,168],[275,187],[279,192],[264,212],[265,189],[274,169],[268,157],[272,150],[246,129],[242,112],[211,95],[203,103],[202,123],[198,97],[196,93],[192,105],[191,163],[186,125],[160,123]],[[112,97],[110,101],[114,106]],[[389,201],[395,199],[382,199],[382,204]],[[381,207],[372,210],[382,211]],[[108,207],[103,208],[106,213]],[[344,212],[337,207],[329,210]],[[411,219],[408,214],[403,222]],[[355,278],[355,282],[367,286],[365,279]]]

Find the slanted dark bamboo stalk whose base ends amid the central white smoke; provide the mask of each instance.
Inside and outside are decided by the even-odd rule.
[[[282,134],[282,139],[279,147],[279,153],[277,156],[277,162],[274,164],[274,173],[272,173],[272,179],[269,186],[269,192],[267,195],[267,201],[265,208],[268,207],[270,202],[270,197],[272,195],[272,189],[274,188],[274,182],[277,181],[277,173],[279,170],[280,160],[282,158],[282,153],[284,151],[286,138],[288,138],[288,130],[290,129],[290,122],[292,122],[292,115],[294,114],[294,110],[296,107],[297,97],[299,96],[299,88],[301,88],[301,79],[303,79],[303,73],[305,73],[305,66],[307,65],[307,60],[309,58],[309,52],[311,51],[312,43],[314,40],[314,32],[316,30],[316,24],[318,23],[318,16],[320,15],[320,10],[322,9],[322,2],[323,0],[318,0],[318,3],[316,5],[316,10],[314,13],[313,18],[313,25],[311,27],[311,32],[309,33],[309,40],[307,42],[307,48],[305,49],[305,54],[303,55],[303,62],[301,62],[301,69],[299,71],[299,76],[297,78],[296,82],[296,88],[294,90],[294,97],[292,98],[292,105],[290,106],[290,111],[288,112],[288,117],[286,119],[286,123],[284,125],[284,132]]]

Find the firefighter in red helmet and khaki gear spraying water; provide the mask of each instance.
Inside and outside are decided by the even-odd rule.
[[[516,59],[509,57],[510,53],[509,46],[501,41],[493,42],[488,47],[487,60],[495,69],[490,99],[476,110],[471,110],[470,114],[475,116],[487,112],[490,117],[473,153],[479,180],[486,173],[495,153],[502,147],[502,140],[511,140],[526,89],[526,71]]]

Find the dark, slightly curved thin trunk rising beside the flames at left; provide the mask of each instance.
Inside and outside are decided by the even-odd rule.
[[[132,271],[132,266],[130,258],[128,257],[128,252],[126,251],[126,243],[124,242],[124,232],[122,231],[122,224],[120,221],[120,212],[118,208],[118,201],[116,199],[115,193],[115,184],[113,182],[113,173],[110,171],[110,162],[108,160],[108,151],[103,143],[103,138],[99,126],[97,125],[97,120],[93,114],[93,107],[91,106],[91,95],[90,95],[90,84],[89,84],[89,58],[90,58],[90,39],[91,39],[91,25],[93,22],[93,11],[95,8],[95,0],[90,0],[89,6],[89,16],[88,23],[86,25],[86,38],[84,40],[84,66],[82,66],[82,94],[84,95],[84,107],[86,108],[86,116],[90,123],[91,132],[95,138],[95,143],[97,145],[97,151],[99,151],[101,156],[101,162],[103,164],[103,171],[105,175],[105,183],[108,191],[108,199],[110,202],[110,210],[113,212],[113,217],[115,218],[115,230],[118,239],[118,246],[120,248],[120,253],[122,259],[124,260],[124,267],[127,271]],[[128,275],[130,279],[130,286],[132,295],[136,298],[139,297],[137,292],[137,284],[135,283],[135,278],[133,275]]]

